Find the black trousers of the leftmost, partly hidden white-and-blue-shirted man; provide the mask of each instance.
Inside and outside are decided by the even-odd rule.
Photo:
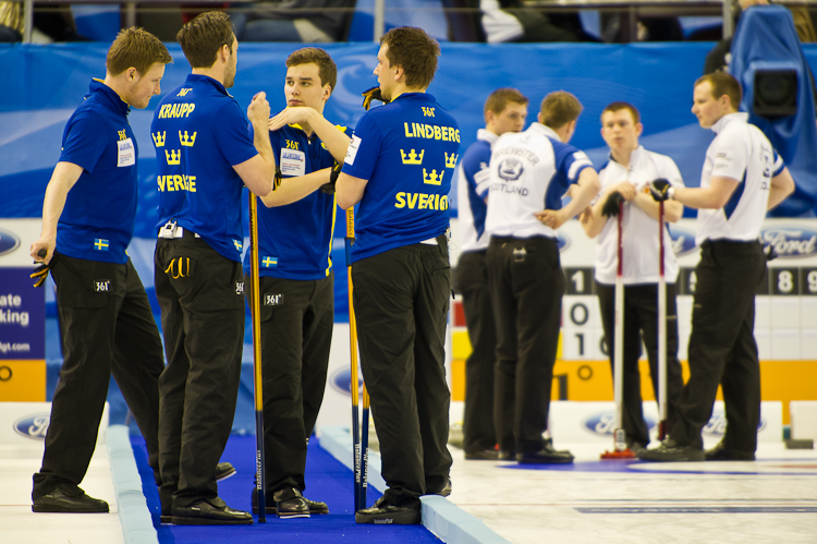
[[[487,250],[460,255],[454,282],[460,288],[462,307],[472,352],[465,363],[465,413],[463,446],[466,452],[492,449],[493,366],[497,363],[497,329],[493,323]]]

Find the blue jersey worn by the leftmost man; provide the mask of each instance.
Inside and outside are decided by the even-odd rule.
[[[101,80],[69,119],[60,162],[83,173],[65,198],[57,251],[74,258],[124,264],[136,221],[138,147],[127,123],[130,106]]]

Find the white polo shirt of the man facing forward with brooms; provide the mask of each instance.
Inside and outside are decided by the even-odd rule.
[[[622,181],[635,184],[638,192],[649,192],[649,183],[664,178],[674,186],[684,186],[681,172],[671,158],[666,155],[648,152],[638,146],[630,156],[630,168],[609,162],[598,173],[601,191]],[[624,203],[622,218],[623,232],[623,268],[624,285],[658,283],[658,221],[649,217],[632,202]],[[618,268],[618,219],[611,217],[596,239],[596,281],[615,283]],[[669,230],[663,229],[663,270],[668,283],[674,283],[678,277],[678,261],[672,251],[672,239]]]

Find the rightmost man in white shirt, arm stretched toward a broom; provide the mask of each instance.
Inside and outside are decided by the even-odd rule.
[[[766,211],[794,191],[782,159],[760,130],[739,113],[741,85],[724,72],[695,82],[692,112],[716,136],[699,188],[651,185],[657,201],[698,208],[700,262],[690,336],[690,379],[678,422],[645,461],[754,460],[760,421],[760,365],[755,342],[755,290],[766,271],[758,240]],[[704,452],[700,430],[723,387],[727,432]]]

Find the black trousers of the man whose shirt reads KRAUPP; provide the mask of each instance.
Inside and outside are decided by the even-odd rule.
[[[159,378],[162,511],[218,496],[216,464],[235,413],[244,343],[241,263],[202,239],[159,239],[156,297],[168,366]]]

